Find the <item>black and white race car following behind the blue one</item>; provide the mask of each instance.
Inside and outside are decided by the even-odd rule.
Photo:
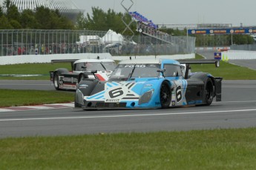
[[[65,68],[50,71],[50,81],[55,89],[75,90],[79,81],[85,78],[107,81],[116,67],[111,59],[52,60],[52,63],[56,62],[70,62],[72,71]]]

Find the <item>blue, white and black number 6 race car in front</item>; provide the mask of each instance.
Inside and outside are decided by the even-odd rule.
[[[215,60],[171,59],[120,61],[108,81],[85,79],[76,89],[75,107],[82,109],[146,109],[210,105],[221,101],[222,78],[191,72],[190,64]]]

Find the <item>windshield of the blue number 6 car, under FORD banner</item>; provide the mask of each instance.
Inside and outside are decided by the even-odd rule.
[[[128,78],[152,78],[160,75],[157,70],[160,64],[120,64],[111,74],[111,80],[127,80]]]

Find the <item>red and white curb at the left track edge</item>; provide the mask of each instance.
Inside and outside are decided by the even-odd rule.
[[[12,106],[1,107],[0,112],[15,112],[15,111],[29,111],[29,110],[42,110],[42,109],[65,109],[73,108],[74,103],[55,103],[55,104],[42,104],[36,106]]]

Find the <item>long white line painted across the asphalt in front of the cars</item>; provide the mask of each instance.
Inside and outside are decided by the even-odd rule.
[[[123,118],[123,117],[142,117],[142,116],[160,116],[160,115],[189,115],[189,114],[202,114],[202,113],[255,112],[255,111],[256,111],[256,109],[241,109],[241,110],[219,110],[219,111],[205,111],[205,112],[176,112],[176,113],[137,114],[137,115],[106,115],[106,116],[82,116],[82,117],[59,117],[59,118],[0,119],[0,121],[63,120],[63,119],[88,119],[88,118]]]

